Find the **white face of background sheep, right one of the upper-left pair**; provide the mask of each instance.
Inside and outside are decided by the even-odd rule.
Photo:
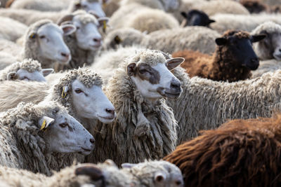
[[[78,47],[83,50],[98,50],[102,44],[102,38],[98,32],[99,23],[86,22],[83,24],[80,17],[81,15],[77,15],[73,18],[73,24],[77,28],[75,36]]]

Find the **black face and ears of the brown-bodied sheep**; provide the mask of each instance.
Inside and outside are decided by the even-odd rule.
[[[240,33],[244,34],[244,33]],[[237,67],[247,67],[256,70],[259,67],[259,58],[256,56],[251,43],[261,41],[265,35],[256,36],[228,36],[216,39],[216,44],[222,53],[227,55]]]

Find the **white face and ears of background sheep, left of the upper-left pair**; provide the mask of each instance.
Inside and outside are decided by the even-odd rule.
[[[48,60],[54,60],[63,64],[71,60],[70,50],[63,41],[63,35],[72,34],[75,31],[73,25],[58,27],[52,23],[41,26],[30,39],[36,39],[39,43],[39,56]]]

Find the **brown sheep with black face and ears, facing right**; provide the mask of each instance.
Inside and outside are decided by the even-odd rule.
[[[264,34],[251,36],[247,32],[230,30],[216,39],[216,51],[212,56],[184,50],[173,53],[173,57],[185,58],[182,66],[190,77],[229,82],[245,80],[251,77],[251,70],[259,67],[259,59],[251,43],[265,37]]]

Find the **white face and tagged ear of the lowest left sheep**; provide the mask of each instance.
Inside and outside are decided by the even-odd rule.
[[[39,125],[52,152],[89,155],[93,151],[95,139],[67,111],[57,111],[55,118],[44,116]]]

